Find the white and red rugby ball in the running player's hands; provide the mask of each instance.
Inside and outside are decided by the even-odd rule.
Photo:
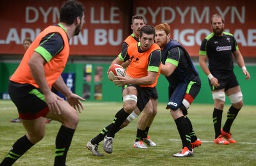
[[[115,76],[125,77],[125,69],[119,64],[113,64],[108,68],[108,79],[117,80]]]

